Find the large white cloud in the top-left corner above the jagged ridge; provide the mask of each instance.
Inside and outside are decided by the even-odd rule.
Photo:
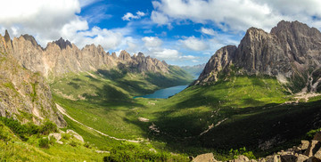
[[[78,16],[82,6],[97,0],[11,0],[0,10],[0,29],[12,36],[29,34],[45,47],[48,42],[63,37],[78,47],[87,44],[103,45],[105,50],[116,49],[123,34],[106,28],[89,28],[87,20]],[[19,4],[19,5],[17,5]]]

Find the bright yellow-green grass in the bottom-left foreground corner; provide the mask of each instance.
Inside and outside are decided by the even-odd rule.
[[[40,148],[39,140],[47,135],[29,136],[27,142],[0,122],[0,161],[103,161],[108,154],[98,154],[74,139],[63,140],[64,144],[52,142],[48,148]],[[73,145],[70,145],[73,142]]]

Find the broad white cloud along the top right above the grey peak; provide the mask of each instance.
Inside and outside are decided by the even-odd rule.
[[[160,0],[152,5],[151,19],[159,25],[192,20],[237,32],[252,26],[269,30],[280,20],[300,20],[321,28],[319,0]]]

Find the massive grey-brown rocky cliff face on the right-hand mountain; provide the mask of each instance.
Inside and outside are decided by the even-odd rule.
[[[316,92],[321,82],[317,75],[320,63],[321,33],[298,21],[283,20],[270,33],[249,28],[237,48],[226,46],[218,50],[194,85],[218,81],[218,74],[234,65],[240,74],[273,76],[280,82]]]

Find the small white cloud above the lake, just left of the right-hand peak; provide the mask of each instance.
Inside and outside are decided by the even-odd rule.
[[[209,48],[201,39],[195,36],[187,37],[185,40],[179,40],[186,48],[193,51],[204,51]]]

